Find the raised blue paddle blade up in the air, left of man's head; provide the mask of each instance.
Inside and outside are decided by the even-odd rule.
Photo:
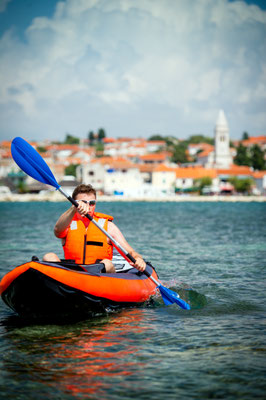
[[[21,137],[13,139],[11,153],[13,160],[26,174],[56,189],[60,187],[46,162],[26,140]]]

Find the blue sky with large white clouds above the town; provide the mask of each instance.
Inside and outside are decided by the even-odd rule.
[[[0,139],[266,134],[266,2],[0,0]]]

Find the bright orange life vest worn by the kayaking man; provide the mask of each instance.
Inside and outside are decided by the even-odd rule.
[[[114,218],[96,212],[93,219],[107,231],[108,221]],[[111,260],[113,257],[113,246],[107,243],[107,236],[93,222],[86,228],[77,214],[68,228],[63,249],[65,258],[75,260],[77,264],[93,264],[96,260]]]

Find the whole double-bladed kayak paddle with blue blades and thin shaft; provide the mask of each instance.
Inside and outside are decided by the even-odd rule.
[[[78,207],[78,203],[61,189],[60,185],[57,183],[52,171],[50,170],[44,159],[28,142],[26,142],[21,137],[16,137],[15,139],[13,139],[11,144],[11,153],[14,161],[27,175],[30,175],[32,178],[36,179],[39,182],[43,182],[55,187],[75,207]],[[135,264],[135,258],[132,257],[131,254],[127,253],[127,251],[107,231],[105,231],[90,214],[86,214],[86,217],[89,218],[89,220],[93,222],[97,226],[97,228],[100,229],[102,233],[111,240],[113,245],[118,249],[118,251],[125,259],[128,259]],[[148,271],[145,270],[144,274],[157,285],[162,295],[163,301],[166,305],[176,303],[181,308],[185,310],[190,310],[189,304],[180,299],[177,293],[164,287],[160,282],[154,279],[154,277],[151,276]]]

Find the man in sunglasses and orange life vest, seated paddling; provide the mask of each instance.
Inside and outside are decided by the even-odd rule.
[[[96,191],[91,185],[81,184],[76,187],[72,197],[78,202],[64,212],[54,227],[54,234],[62,240],[66,259],[73,259],[77,264],[101,262],[106,272],[115,272],[112,263],[113,245],[111,241],[91,222],[90,214],[108,233],[129,253],[136,263],[134,267],[143,272],[146,263],[128,244],[122,232],[112,222],[113,217],[95,212]],[[55,253],[47,253],[43,261],[60,261]]]

